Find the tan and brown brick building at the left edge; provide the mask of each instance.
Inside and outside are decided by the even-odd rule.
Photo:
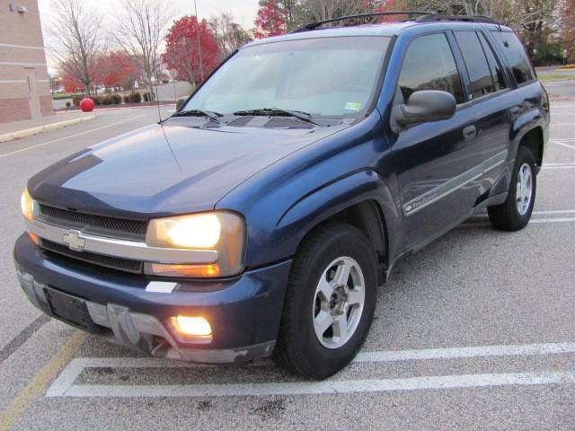
[[[37,0],[0,0],[0,122],[51,115]]]

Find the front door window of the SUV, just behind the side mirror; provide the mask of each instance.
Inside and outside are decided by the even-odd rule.
[[[450,92],[457,103],[464,102],[464,92],[447,37],[429,34],[413,40],[403,59],[399,86],[405,101],[418,90]]]

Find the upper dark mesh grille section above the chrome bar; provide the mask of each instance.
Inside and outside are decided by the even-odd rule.
[[[56,207],[40,205],[40,220],[65,229],[108,236],[128,241],[146,240],[147,221],[95,216]]]

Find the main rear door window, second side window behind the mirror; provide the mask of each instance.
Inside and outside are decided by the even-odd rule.
[[[455,33],[469,73],[473,99],[495,92],[491,70],[477,33],[475,31],[456,31]]]

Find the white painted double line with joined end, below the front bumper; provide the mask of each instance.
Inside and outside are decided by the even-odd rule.
[[[536,356],[575,353],[575,343],[547,343],[508,346],[426,348],[361,352],[355,363],[462,359],[484,356]],[[261,361],[260,364],[269,364]],[[85,368],[164,368],[196,367],[154,358],[75,358],[52,383],[47,397],[200,397],[245,395],[294,395],[356,391],[410,391],[422,389],[467,388],[502,385],[575,383],[575,373],[462,374],[409,377],[384,380],[326,380],[301,383],[110,385],[75,384]],[[257,366],[257,364],[256,364]]]

